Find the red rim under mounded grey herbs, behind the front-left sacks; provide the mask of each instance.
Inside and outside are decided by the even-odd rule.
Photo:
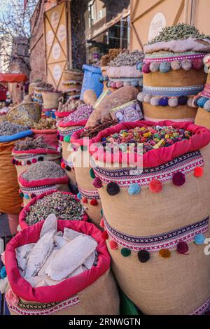
[[[26,172],[26,170],[25,170],[25,172]],[[22,174],[24,174],[25,172],[22,172]],[[59,177],[57,179],[39,179],[37,181],[27,181],[26,179],[22,178],[22,174],[20,174],[20,176],[19,176],[19,182],[20,182],[20,185],[24,188],[35,188],[38,186],[69,183],[68,176]]]

